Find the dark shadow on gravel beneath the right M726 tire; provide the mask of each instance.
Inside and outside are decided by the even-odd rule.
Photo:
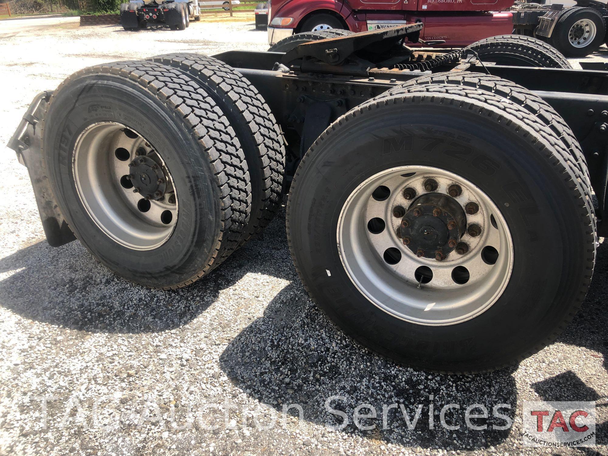
[[[348,339],[326,319],[308,299],[299,282],[284,288],[255,320],[230,342],[220,357],[220,366],[241,390],[258,401],[283,412],[283,404],[300,404],[303,419],[325,426],[344,423],[340,416],[328,412],[330,406],[346,413],[348,425],[329,438],[343,434],[359,435],[382,444],[441,449],[489,448],[500,444],[511,430],[467,429],[464,413],[472,404],[501,409],[513,420],[517,404],[515,367],[482,375],[441,375],[404,367],[376,356]],[[429,429],[429,404],[434,404],[434,429]],[[361,420],[361,430],[354,426],[354,409],[360,404],[374,407],[377,417]],[[382,421],[383,406],[397,404],[387,413],[387,426]],[[402,404],[410,420],[422,407],[418,423],[409,429],[398,407]],[[441,426],[440,410],[446,404],[459,404],[460,410],[449,410],[446,423],[460,424],[458,430]],[[364,408],[361,414],[368,413]],[[478,413],[477,412],[472,413]],[[298,416],[295,409],[288,413]],[[489,418],[472,420],[483,426],[505,426],[505,420]],[[330,440],[331,441],[331,440]],[[374,443],[371,442],[370,443]]]

